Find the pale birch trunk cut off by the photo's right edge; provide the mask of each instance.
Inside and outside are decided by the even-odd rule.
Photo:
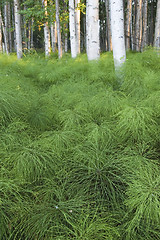
[[[160,0],[158,0],[157,2],[154,47],[156,48],[160,47]]]

